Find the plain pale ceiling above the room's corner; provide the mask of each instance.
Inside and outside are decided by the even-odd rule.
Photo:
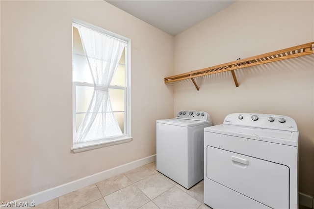
[[[138,19],[176,36],[235,0],[105,0]]]

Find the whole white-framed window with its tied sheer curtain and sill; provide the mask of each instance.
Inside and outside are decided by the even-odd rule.
[[[73,24],[74,153],[131,141],[130,40]]]

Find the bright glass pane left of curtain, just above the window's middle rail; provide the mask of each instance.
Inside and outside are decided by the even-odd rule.
[[[85,55],[73,54],[73,81],[93,83]]]

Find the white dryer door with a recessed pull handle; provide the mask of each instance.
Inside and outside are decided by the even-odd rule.
[[[208,146],[206,175],[271,208],[289,208],[289,168],[285,165]]]

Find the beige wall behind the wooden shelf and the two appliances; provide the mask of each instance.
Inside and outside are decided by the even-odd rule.
[[[237,1],[175,37],[175,74],[314,41],[314,1]],[[208,111],[214,125],[235,112],[294,118],[299,190],[314,195],[314,55],[175,84],[174,113]],[[170,75],[169,75],[170,76]],[[278,153],[280,155],[280,153]]]

